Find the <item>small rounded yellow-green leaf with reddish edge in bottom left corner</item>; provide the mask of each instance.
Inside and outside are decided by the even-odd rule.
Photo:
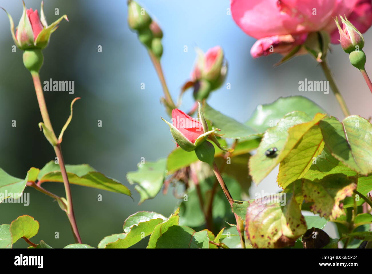
[[[17,242],[22,237],[27,239],[35,236],[39,231],[39,222],[35,221],[29,215],[19,216],[10,224],[10,234],[12,235],[12,243]]]

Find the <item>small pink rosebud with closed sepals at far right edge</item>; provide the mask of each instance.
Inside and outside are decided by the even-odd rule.
[[[340,44],[342,49],[346,53],[351,53],[355,50],[360,50],[364,46],[364,38],[363,35],[358,31],[355,26],[350,23],[349,20],[345,19],[340,15],[341,22],[343,23],[342,29],[339,25],[339,20],[336,17],[334,20],[336,22],[337,28],[339,29],[340,33]]]

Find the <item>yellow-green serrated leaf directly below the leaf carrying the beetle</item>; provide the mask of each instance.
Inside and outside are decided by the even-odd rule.
[[[312,126],[279,166],[278,185],[286,188],[295,180],[301,179],[310,169],[314,158],[324,148],[323,135],[318,125]]]

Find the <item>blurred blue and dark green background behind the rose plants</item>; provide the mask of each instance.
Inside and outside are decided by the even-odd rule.
[[[26,0],[26,6],[40,8],[39,0]],[[278,68],[273,64],[280,56],[272,55],[253,60],[249,50],[254,39],[248,37],[228,14],[230,2],[213,0],[142,0],[163,29],[164,73],[173,98],[189,78],[195,60],[195,47],[203,51],[221,45],[229,63],[226,82],[209,98],[209,104],[228,116],[244,122],[258,104],[271,103],[280,96],[304,95],[315,101],[331,115],[342,118],[336,100],[330,92],[301,92],[298,82],[325,80],[321,68],[310,56],[296,57]],[[22,15],[22,1],[0,0],[0,6],[13,16],[15,24]],[[55,15],[55,8],[59,15]],[[157,79],[145,48],[137,35],[127,26],[126,1],[47,0],[44,12],[48,23],[67,14],[69,22],[62,21],[44,50],[41,81],[75,81],[75,93],[45,92],[49,114],[56,132],[64,125],[70,103],[75,97],[82,99],[74,105],[74,117],[64,134],[62,151],[68,164],[87,163],[106,176],[126,186],[128,171],[136,170],[141,157],[154,161],[166,157],[173,149],[168,126],[161,121],[166,117],[159,98],[161,85]],[[12,53],[13,40],[9,21],[0,12],[0,167],[15,177],[24,178],[30,167],[42,168],[54,159],[54,151],[39,131],[41,122],[35,91],[29,72],[23,67],[22,51]],[[368,56],[372,56],[371,31],[365,35]],[[102,45],[102,53],[97,47]],[[184,51],[187,46],[187,52]],[[368,88],[359,72],[353,68],[339,45],[332,47],[328,60],[353,114],[367,119],[372,115]],[[367,71],[372,71],[367,61]],[[141,89],[145,83],[145,89]],[[189,91],[182,109],[192,105]],[[12,127],[16,120],[16,127]],[[97,126],[102,120],[102,127]],[[275,192],[277,170],[274,170],[251,194],[264,190]],[[45,183],[45,188],[64,196],[60,183]],[[128,215],[141,210],[156,211],[169,216],[178,200],[171,191],[138,205],[139,195],[132,186],[134,201],[125,195],[103,192],[72,185],[74,209],[81,238],[84,243],[97,246],[110,234],[121,233]],[[49,196],[26,188],[30,205],[0,204],[0,224],[10,224],[18,216],[29,214],[40,223],[33,242],[43,239],[54,248],[73,243],[73,236],[64,212]],[[97,201],[102,194],[103,201]],[[59,232],[59,239],[55,239]],[[334,236],[334,228],[327,232]],[[28,245],[18,241],[14,247]],[[135,247],[146,246],[145,241]]]

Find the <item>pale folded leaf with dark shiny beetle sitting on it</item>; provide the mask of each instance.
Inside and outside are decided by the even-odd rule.
[[[286,114],[278,125],[267,129],[257,153],[249,160],[253,180],[257,184],[261,182],[288,155],[302,136],[324,116],[325,114],[316,114],[314,119],[311,119],[304,112],[294,111]],[[277,149],[276,154],[266,156],[265,152],[273,148]]]

